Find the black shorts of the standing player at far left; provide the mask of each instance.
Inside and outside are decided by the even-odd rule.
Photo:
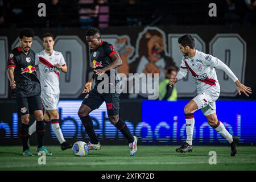
[[[16,98],[18,106],[18,116],[33,113],[35,110],[43,110],[43,104],[40,96],[18,97]]]

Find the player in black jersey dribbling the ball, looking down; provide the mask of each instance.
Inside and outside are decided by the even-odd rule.
[[[98,142],[96,134],[93,129],[93,121],[89,116],[89,113],[98,107],[105,101],[108,111],[109,121],[117,127],[123,136],[128,140],[130,147],[130,156],[134,156],[137,151],[137,137],[131,135],[130,130],[126,126],[126,123],[119,118],[119,93],[118,90],[114,88],[108,89],[108,92],[98,92],[100,88],[99,85],[102,84],[101,78],[99,76],[106,74],[109,77],[108,84],[116,85],[118,84],[118,79],[110,78],[110,70],[113,71],[115,68],[122,65],[122,60],[117,51],[115,51],[112,44],[104,42],[101,39],[101,33],[97,28],[90,28],[86,32],[86,42],[90,46],[90,60],[93,64],[94,75],[85,83],[85,89],[82,93],[86,94],[84,101],[79,108],[78,115],[82,121],[82,125],[85,127],[85,131],[90,138],[88,143],[89,150],[100,150],[101,145]],[[113,72],[112,72],[113,73]],[[95,81],[95,86],[92,88],[92,82]],[[112,91],[112,92],[110,92]]]

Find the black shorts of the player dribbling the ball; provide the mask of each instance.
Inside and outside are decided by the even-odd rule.
[[[97,89],[94,88],[86,94],[82,104],[90,107],[90,109],[98,109],[102,103],[106,102],[108,115],[118,115],[119,113],[119,96],[118,93],[98,93]]]

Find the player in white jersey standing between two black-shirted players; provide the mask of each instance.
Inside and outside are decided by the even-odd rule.
[[[41,98],[45,109],[44,119],[46,122],[51,122],[52,129],[60,142],[61,150],[66,150],[71,148],[72,144],[65,141],[61,132],[57,104],[60,97],[60,70],[65,73],[68,71],[68,67],[62,53],[53,50],[54,43],[52,34],[43,35],[44,50],[36,54],[35,64],[38,65],[40,72]],[[28,134],[32,135],[35,131],[36,122],[30,126]]]

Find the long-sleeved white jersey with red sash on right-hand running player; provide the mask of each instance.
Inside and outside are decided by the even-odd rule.
[[[180,71],[176,77],[180,80],[190,71],[196,82],[197,93],[201,93],[206,89],[219,92],[220,84],[218,83],[215,68],[222,69],[233,81],[237,81],[234,73],[221,60],[197,50],[194,57],[184,56],[182,58]]]

